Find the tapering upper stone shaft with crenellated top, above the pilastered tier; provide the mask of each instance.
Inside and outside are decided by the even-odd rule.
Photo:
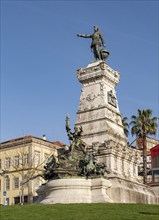
[[[104,61],[77,70],[82,83],[76,126],[82,126],[82,140],[88,145],[113,140],[126,144],[115,86],[120,75]]]

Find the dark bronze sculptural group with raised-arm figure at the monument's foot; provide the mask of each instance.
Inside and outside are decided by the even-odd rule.
[[[89,152],[87,145],[81,140],[82,127],[75,126],[74,132],[71,132],[68,116],[66,131],[71,141],[70,145],[59,149],[56,156],[51,155],[48,158],[42,177],[50,180],[67,176],[85,176],[86,178],[103,176],[106,166],[96,161],[93,152]]]

